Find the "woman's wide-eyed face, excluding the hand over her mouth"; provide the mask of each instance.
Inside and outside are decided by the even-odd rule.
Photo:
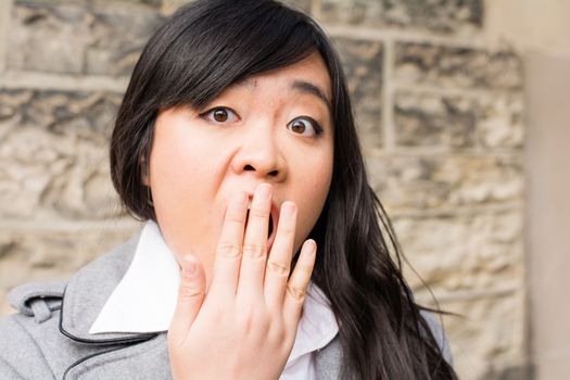
[[[202,110],[159,114],[144,182],[166,242],[178,258],[200,258],[207,283],[226,205],[238,190],[253,195],[258,183],[270,183],[274,212],[293,201],[299,251],[330,187],[330,78],[314,53],[227,88]]]

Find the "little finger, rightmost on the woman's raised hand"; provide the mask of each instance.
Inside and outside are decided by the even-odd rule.
[[[301,249],[299,259],[289,282],[283,299],[283,319],[288,331],[296,331],[303,311],[303,303],[315,267],[317,244],[313,239],[306,240]]]

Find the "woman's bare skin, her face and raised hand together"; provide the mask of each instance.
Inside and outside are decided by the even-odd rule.
[[[293,88],[295,80],[321,97]],[[316,243],[306,238],[332,177],[330,99],[328,72],[314,53],[227,88],[203,110],[159,114],[143,180],[182,268],[168,331],[175,379],[282,372],[315,263]],[[271,202],[280,212],[268,250]]]

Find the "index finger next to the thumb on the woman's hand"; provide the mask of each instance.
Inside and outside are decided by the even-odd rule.
[[[248,212],[248,194],[238,191],[226,208],[224,226],[216,248],[208,293],[223,299],[236,296],[241,262],[241,244]]]

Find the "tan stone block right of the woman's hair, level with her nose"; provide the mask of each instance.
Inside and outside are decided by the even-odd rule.
[[[390,210],[521,202],[520,155],[394,155],[368,157],[370,183]]]

